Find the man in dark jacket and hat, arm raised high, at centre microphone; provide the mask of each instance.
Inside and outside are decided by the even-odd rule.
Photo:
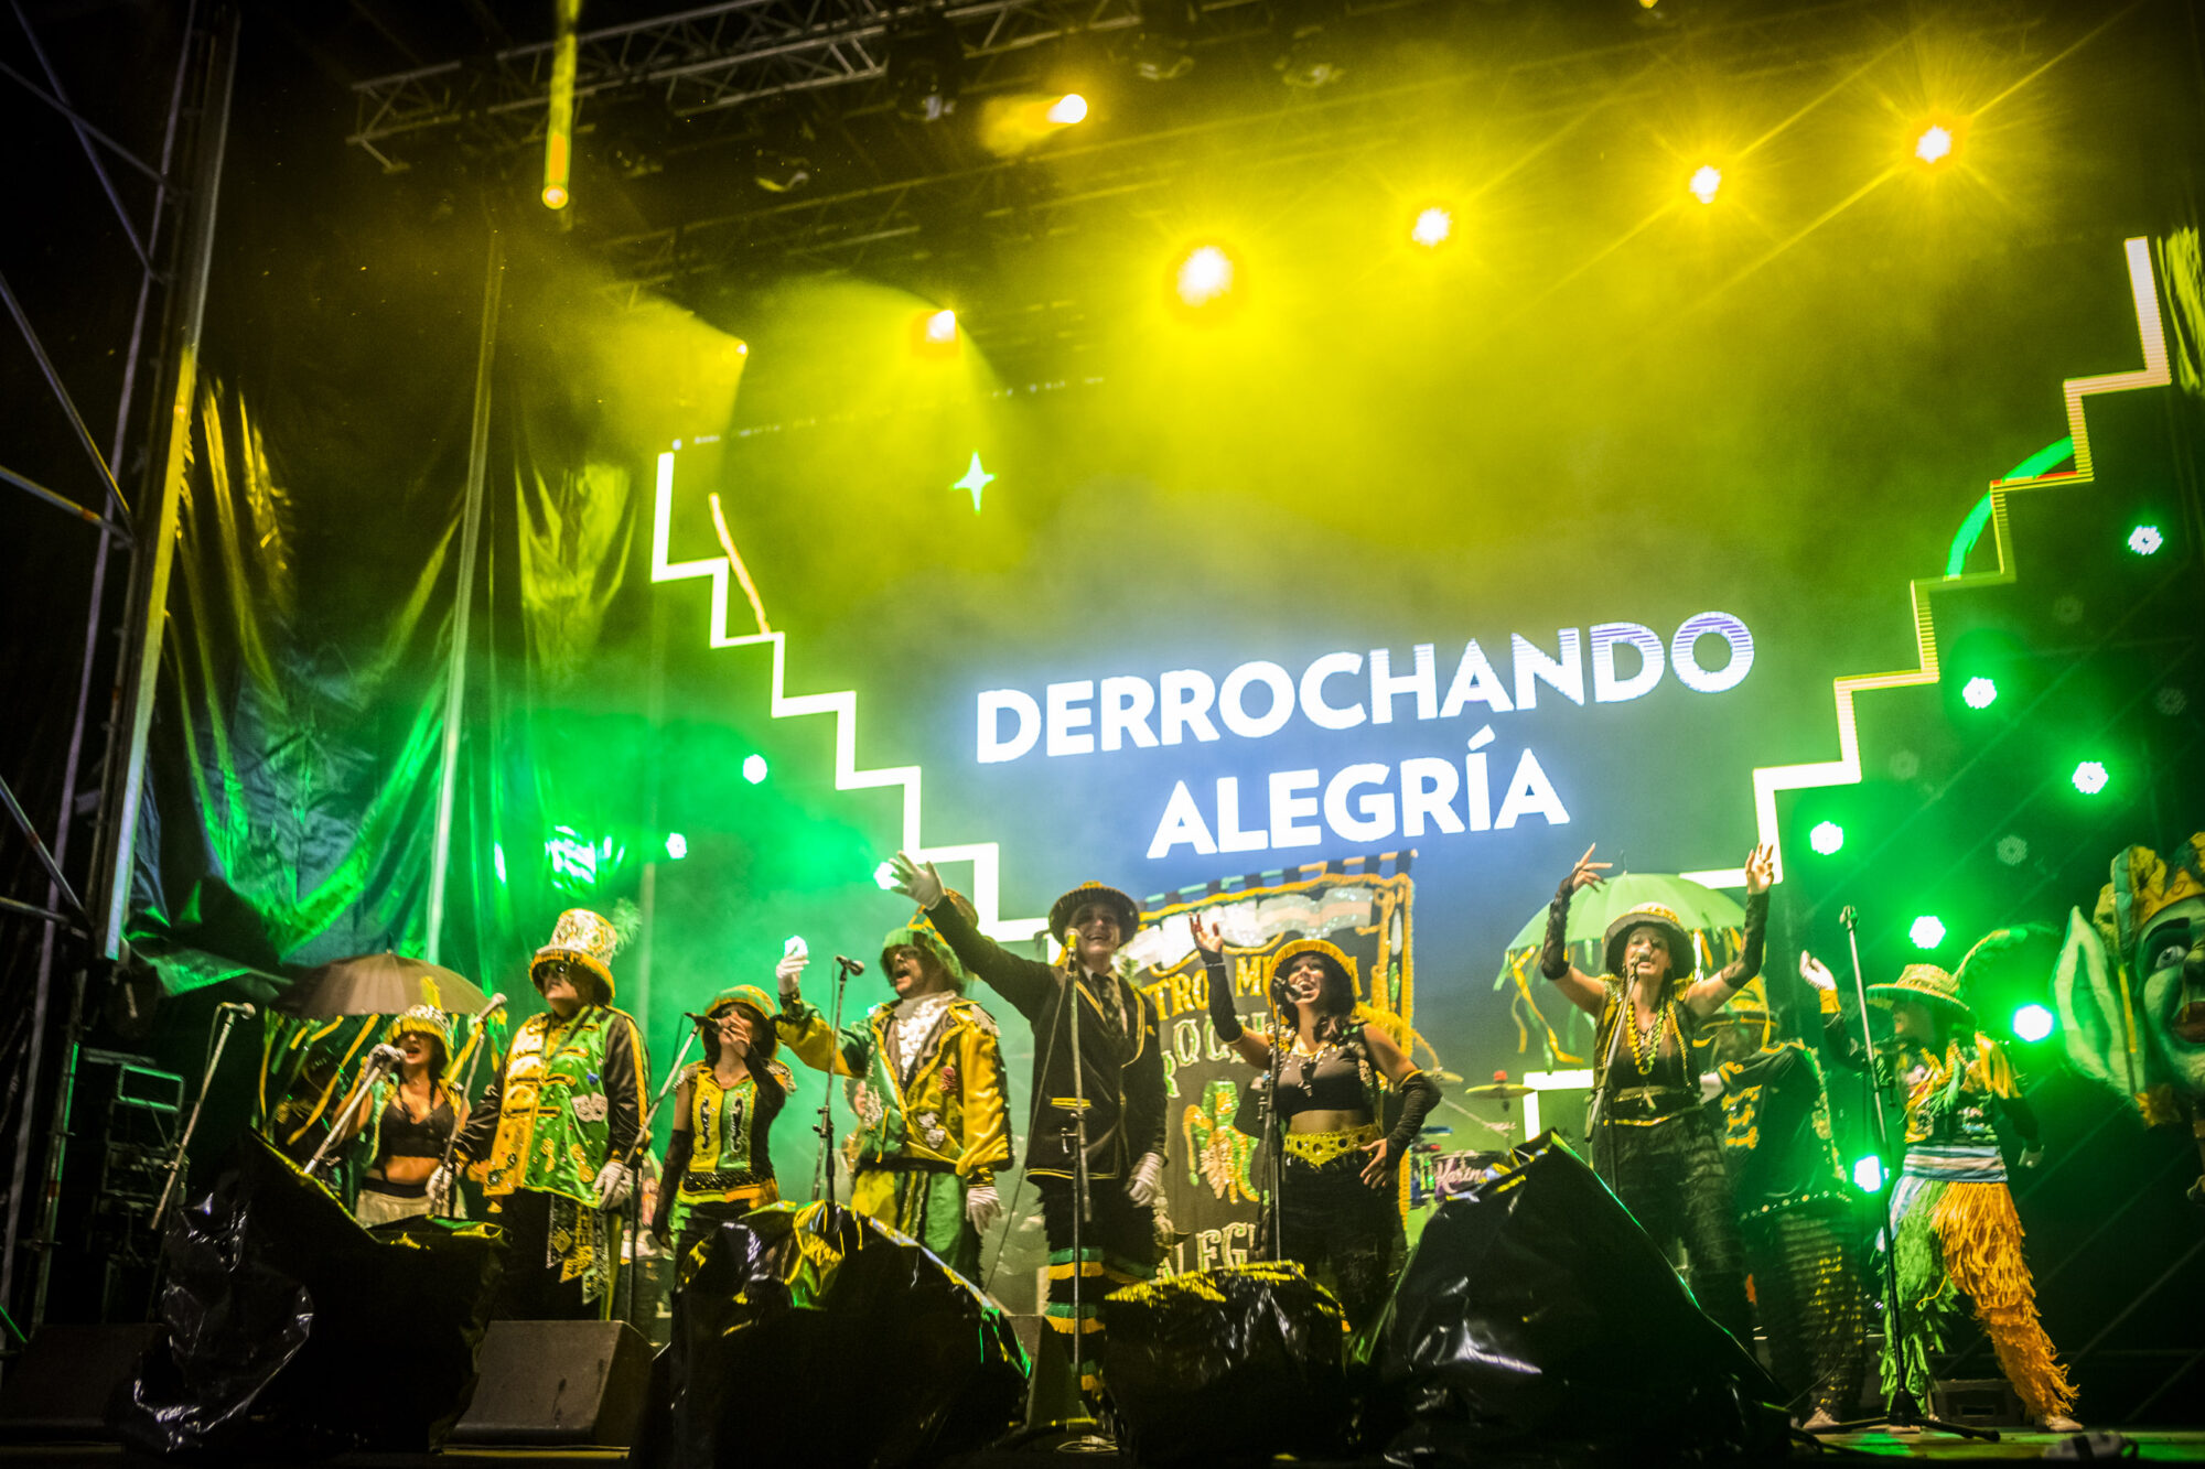
[[[1080,1387],[1091,1394],[1100,1387],[1102,1297],[1153,1277],[1162,1257],[1155,1242],[1164,1180],[1162,1012],[1118,966],[1118,948],[1140,929],[1140,909],[1100,882],[1072,889],[1050,907],[1050,933],[1063,944],[1063,959],[1041,964],[983,937],[944,896],[933,862],[897,851],[893,869],[895,889],[926,909],[957,959],[1034,1028],[1025,1176],[1041,1193],[1050,1237],[1045,1317],[1050,1328],[1076,1339]],[[1072,1070],[1074,1043],[1078,1072]],[[1083,1109],[1085,1220],[1076,1182]]]

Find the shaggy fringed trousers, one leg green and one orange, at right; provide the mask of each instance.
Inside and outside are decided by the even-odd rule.
[[[2022,1257],[2022,1218],[2013,1211],[1998,1149],[1907,1149],[1892,1215],[1905,1319],[1899,1332],[1885,1332],[1885,1390],[1903,1376],[1907,1392],[1927,1401],[1929,1352],[1945,1350],[1965,1297],[2029,1416],[2070,1414],[2075,1387],[2037,1319],[2037,1290]]]

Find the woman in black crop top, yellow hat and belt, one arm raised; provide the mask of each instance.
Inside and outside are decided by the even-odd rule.
[[[1440,1087],[1409,1063],[1385,1030],[1356,1017],[1347,955],[1323,940],[1279,948],[1270,968],[1268,1034],[1250,1034],[1233,1012],[1217,926],[1188,918],[1211,986],[1211,1023],[1241,1061],[1272,1068],[1277,1116],[1286,1118],[1279,1178],[1279,1248],[1332,1286],[1347,1323],[1378,1321],[1400,1273],[1398,1167],[1422,1132]],[[1394,1132],[1378,1132],[1378,1076],[1402,1094]]]

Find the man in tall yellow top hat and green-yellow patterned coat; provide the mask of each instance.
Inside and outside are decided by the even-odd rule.
[[[613,1215],[628,1200],[650,1059],[635,1017],[613,1008],[622,935],[600,913],[560,913],[529,962],[549,1006],[520,1021],[505,1068],[467,1114],[456,1165],[483,1176],[512,1255],[494,1315],[578,1321],[611,1308],[620,1266]],[[445,1169],[432,1191],[450,1187]]]

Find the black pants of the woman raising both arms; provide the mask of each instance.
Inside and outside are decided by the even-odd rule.
[[[1700,1310],[1751,1352],[1753,1308],[1746,1304],[1731,1173],[1707,1114],[1680,1112],[1643,1127],[1601,1123],[1592,1154],[1601,1178],[1671,1262],[1676,1246],[1685,1246]]]

